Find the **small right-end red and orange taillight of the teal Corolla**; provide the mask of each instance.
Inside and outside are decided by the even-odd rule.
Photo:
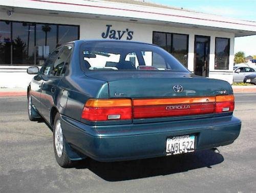
[[[233,112],[234,95],[218,95],[216,96],[215,113]]]

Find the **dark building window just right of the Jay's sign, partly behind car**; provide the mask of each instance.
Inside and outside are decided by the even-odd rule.
[[[172,54],[187,67],[188,35],[153,32],[153,43]]]

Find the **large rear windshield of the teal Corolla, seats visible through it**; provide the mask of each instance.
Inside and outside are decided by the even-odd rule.
[[[122,41],[85,42],[80,51],[84,70],[188,70],[156,45]]]

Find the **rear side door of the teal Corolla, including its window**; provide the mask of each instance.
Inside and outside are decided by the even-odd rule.
[[[62,71],[65,68],[65,62],[72,52],[72,46],[65,45],[61,50],[56,50],[55,52],[57,52],[57,57],[52,61],[49,74],[43,77],[41,86],[42,115],[49,123],[51,108],[55,106],[55,96],[59,92],[58,84],[63,75]]]

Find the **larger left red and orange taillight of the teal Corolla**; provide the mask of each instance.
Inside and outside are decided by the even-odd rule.
[[[130,99],[89,99],[81,118],[91,122],[132,119]]]

